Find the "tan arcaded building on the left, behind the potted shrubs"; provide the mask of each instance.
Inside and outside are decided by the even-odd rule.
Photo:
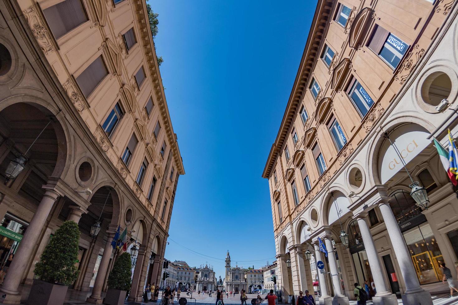
[[[65,220],[81,230],[72,287],[102,302],[120,226],[139,248],[129,299],[141,300],[160,281],[185,173],[146,3],[2,0],[0,11],[0,259],[15,253],[0,302],[19,304]],[[12,178],[9,165],[23,170]]]

